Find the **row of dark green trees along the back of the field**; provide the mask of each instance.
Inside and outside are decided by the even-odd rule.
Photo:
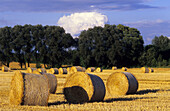
[[[144,46],[140,31],[124,25],[94,27],[73,38],[59,26],[16,25],[0,28],[0,61],[37,67],[138,67],[170,65],[170,39],[155,37]]]

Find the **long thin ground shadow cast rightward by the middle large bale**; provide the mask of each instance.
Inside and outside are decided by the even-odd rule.
[[[116,101],[133,101],[137,99],[151,99],[151,98],[157,98],[157,97],[111,98],[111,99],[105,100],[104,102],[111,103],[111,102],[116,102]]]

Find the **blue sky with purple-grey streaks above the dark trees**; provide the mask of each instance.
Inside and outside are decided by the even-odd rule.
[[[75,19],[80,18],[77,14],[83,13],[81,17],[88,18],[90,14],[85,12],[96,12],[93,13],[96,21],[104,17],[95,22],[98,25],[103,25],[103,21],[137,28],[145,44],[150,44],[155,36],[170,37],[170,0],[0,0],[0,27],[17,24],[59,25],[63,16],[65,23],[61,20],[61,26],[66,26],[70,17],[74,16],[75,21],[81,20]],[[83,20],[87,22],[91,19]]]

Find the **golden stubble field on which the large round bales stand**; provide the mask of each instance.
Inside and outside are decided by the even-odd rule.
[[[21,70],[25,72],[25,70]],[[104,83],[108,76],[118,70],[104,70],[92,73],[100,76]],[[58,86],[56,94],[51,94],[48,106],[14,106],[9,105],[9,90],[12,72],[0,71],[0,111],[56,111],[56,110],[118,110],[118,111],[168,111],[170,110],[170,68],[154,68],[154,73],[141,73],[139,68],[128,69],[137,78],[139,88],[136,94],[111,97],[106,90],[103,102],[68,104],[62,93],[67,75],[56,75]]]

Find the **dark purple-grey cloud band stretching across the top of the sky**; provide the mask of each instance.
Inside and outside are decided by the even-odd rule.
[[[84,12],[159,8],[150,0],[0,0],[0,12]]]

